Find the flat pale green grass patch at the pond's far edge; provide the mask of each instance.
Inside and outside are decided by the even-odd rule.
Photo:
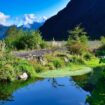
[[[72,68],[72,69],[71,69]],[[57,69],[52,71],[46,71],[38,74],[38,77],[43,78],[53,78],[53,77],[67,77],[67,76],[77,76],[83,75],[92,72],[92,69],[89,67],[65,67],[63,69]],[[76,68],[75,70],[73,68]],[[78,70],[77,70],[78,69]]]

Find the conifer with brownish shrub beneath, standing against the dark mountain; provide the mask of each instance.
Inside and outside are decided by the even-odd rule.
[[[69,38],[67,41],[68,50],[71,54],[83,54],[87,52],[88,37],[87,33],[80,26],[75,27],[69,31]]]

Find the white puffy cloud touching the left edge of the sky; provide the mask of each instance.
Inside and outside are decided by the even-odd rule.
[[[0,12],[0,24],[1,25],[10,25],[10,23],[7,21],[10,18],[9,15],[5,15],[4,13]]]

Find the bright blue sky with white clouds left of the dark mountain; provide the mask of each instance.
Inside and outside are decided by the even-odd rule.
[[[70,0],[0,0],[0,24],[41,22],[63,9]]]

